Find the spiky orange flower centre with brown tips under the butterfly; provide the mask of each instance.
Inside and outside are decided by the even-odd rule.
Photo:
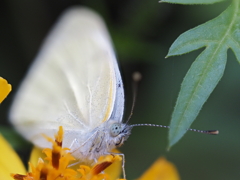
[[[59,127],[55,141],[50,137],[45,138],[52,143],[52,149],[46,148],[43,150],[46,157],[44,160],[40,158],[36,166],[29,163],[31,173],[26,175],[12,174],[15,180],[110,180],[110,176],[104,173],[104,170],[113,162],[121,161],[118,155],[108,155],[100,157],[93,167],[80,165],[78,169],[70,168],[70,162],[75,158],[68,152],[68,148],[62,147],[62,126]]]

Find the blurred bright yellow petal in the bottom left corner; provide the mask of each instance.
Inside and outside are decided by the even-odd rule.
[[[25,174],[21,159],[0,134],[0,179],[12,180],[11,173]]]

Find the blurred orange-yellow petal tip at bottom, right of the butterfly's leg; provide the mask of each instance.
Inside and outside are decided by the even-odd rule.
[[[138,180],[180,180],[176,167],[161,157]]]

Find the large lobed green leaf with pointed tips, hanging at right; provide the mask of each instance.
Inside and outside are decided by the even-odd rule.
[[[217,18],[183,33],[170,47],[167,56],[206,48],[182,82],[170,123],[169,148],[186,133],[221,79],[228,48],[232,49],[240,62],[239,27],[240,1],[234,0]]]

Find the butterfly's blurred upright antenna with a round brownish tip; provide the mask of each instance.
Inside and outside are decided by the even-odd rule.
[[[126,124],[128,124],[129,120],[131,119],[132,115],[133,115],[133,109],[135,107],[136,104],[136,97],[137,97],[137,92],[138,92],[138,83],[139,81],[141,81],[142,79],[142,75],[140,72],[134,72],[132,75],[133,78],[133,103],[132,103],[132,108],[131,108],[131,112],[130,115],[126,121]]]

